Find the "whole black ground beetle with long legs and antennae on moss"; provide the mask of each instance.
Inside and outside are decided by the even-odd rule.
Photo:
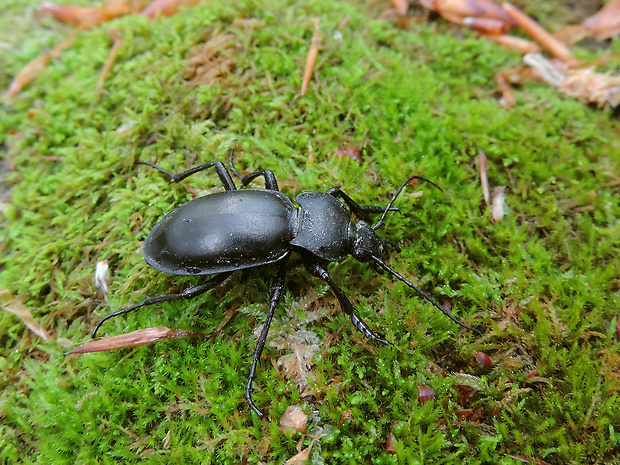
[[[392,244],[375,233],[383,225],[389,211],[398,211],[397,208],[392,208],[392,205],[411,180],[420,179],[439,188],[435,183],[421,176],[409,176],[385,208],[359,205],[338,188],[331,188],[325,193],[299,194],[296,198],[299,207],[295,207],[293,202],[280,192],[278,181],[271,170],[254,171],[242,176],[232,164],[232,155],[233,150],[229,157],[230,169],[241,180],[242,187],[258,177],[263,177],[265,189],[237,190],[230,173],[220,161],[196,166],[178,174],[169,173],[152,163],[138,162],[165,174],[170,178],[170,182],[182,181],[211,167],[215,169],[225,191],[190,200],[172,210],[151,230],[143,247],[146,262],[164,273],[215,276],[185,289],[180,294],[147,297],[139,304],[106,315],[95,326],[93,337],[101,325],[112,317],[147,305],[190,299],[213,289],[234,271],[277,263],[279,270],[271,283],[269,312],[254,349],[252,367],[245,387],[248,404],[263,418],[262,412],[252,401],[252,381],[274,312],[282,297],[285,265],[292,252],[301,255],[303,264],[313,276],[329,285],[342,310],[351,317],[353,325],[374,342],[390,345],[355,313],[353,304],[328,273],[329,262],[341,262],[349,254],[361,262],[374,262],[414,289],[451,320],[471,329],[386,265],[387,248]],[[360,219],[368,218],[371,214],[381,214],[379,221],[372,227]],[[356,219],[353,220],[353,217]],[[398,249],[396,246],[392,247]]]

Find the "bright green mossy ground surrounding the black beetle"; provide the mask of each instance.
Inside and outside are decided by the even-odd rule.
[[[37,2],[4,3],[2,88],[69,33],[36,20]],[[80,33],[2,104],[3,182],[12,190],[0,287],[53,338],[43,343],[0,313],[0,461],[281,463],[300,441],[278,428],[291,404],[302,406],[309,433],[320,436],[313,463],[617,460],[617,119],[544,84],[517,90],[517,106],[504,110],[495,74],[515,66],[516,54],[442,21],[429,24],[421,13],[405,29],[373,19],[385,5],[214,0],[171,18],[125,17]],[[310,91],[300,97],[314,18],[322,48]],[[123,44],[96,93],[109,29]],[[188,57],[223,34],[236,37],[234,66],[192,86]],[[620,42],[608,51],[619,52]],[[590,53],[601,52],[578,50]],[[431,295],[449,298],[482,335],[351,259],[332,275],[394,347],[369,344],[324,285],[291,270],[277,319],[305,308],[313,287],[318,297],[304,311],[326,316],[307,325],[320,341],[314,400],[301,399],[272,365],[283,353],[265,350],[254,398],[272,421],[259,421],[243,395],[270,269],[103,328],[108,335],[162,324],[206,332],[239,307],[242,315],[215,342],[65,356],[88,340],[101,315],[196,281],[148,268],[139,249],[164,213],[192,198],[187,187],[214,192],[217,176],[171,186],[135,161],[181,171],[224,160],[237,143],[240,169],[272,169],[291,196],[339,186],[354,199],[384,203],[407,174],[423,170],[444,193],[421,186],[421,198],[411,195],[415,189],[401,196],[402,214],[389,216],[383,233],[403,249],[390,263]],[[335,155],[351,146],[364,147],[361,162]],[[482,207],[478,150],[489,157],[491,184],[508,186],[508,214],[498,223]],[[92,285],[102,259],[114,277],[107,303]],[[475,350],[495,366],[461,406],[459,373],[477,375]],[[435,390],[433,401],[419,402],[420,385]],[[480,409],[461,420],[464,408]],[[345,411],[352,421],[338,428]],[[385,451],[390,433],[392,455]]]

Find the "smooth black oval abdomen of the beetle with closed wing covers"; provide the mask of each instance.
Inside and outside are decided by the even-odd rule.
[[[277,191],[236,190],[191,200],[144,241],[146,262],[176,275],[205,275],[273,263],[290,250],[297,209]]]

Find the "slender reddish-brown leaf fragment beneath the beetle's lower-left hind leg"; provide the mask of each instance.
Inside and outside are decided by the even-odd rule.
[[[200,337],[213,339],[218,332],[204,334],[186,331],[184,329],[170,329],[167,326],[155,326],[153,328],[138,329],[119,336],[105,337],[96,341],[87,342],[71,349],[69,354],[85,354],[91,352],[103,352],[107,350],[124,349],[127,347],[153,344],[166,339],[180,339],[183,337]]]

